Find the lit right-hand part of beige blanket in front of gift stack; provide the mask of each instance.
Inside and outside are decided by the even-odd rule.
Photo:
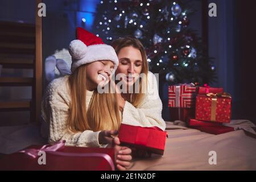
[[[253,123],[233,121],[229,126],[245,130],[220,135],[187,129],[182,122],[175,124],[179,126],[167,122],[164,155],[134,159],[129,170],[256,170],[256,135],[250,127]],[[209,164],[210,151],[216,152],[217,164]]]

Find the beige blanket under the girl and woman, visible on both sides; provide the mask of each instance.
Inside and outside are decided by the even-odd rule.
[[[253,123],[232,121],[236,127],[212,135],[185,127],[180,121],[166,122],[168,138],[163,156],[135,158],[129,170],[256,170],[256,133]],[[11,154],[31,144],[44,144],[35,123],[0,127],[0,153]],[[217,164],[209,164],[209,152],[216,152]]]

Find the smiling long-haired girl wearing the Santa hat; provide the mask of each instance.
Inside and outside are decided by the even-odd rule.
[[[71,75],[53,80],[42,102],[42,117],[48,127],[48,141],[66,140],[68,146],[106,147],[115,144],[117,168],[130,165],[131,150],[120,144],[121,124],[115,94],[97,92],[108,84],[118,66],[111,46],[90,32],[77,28],[77,40],[69,45]]]

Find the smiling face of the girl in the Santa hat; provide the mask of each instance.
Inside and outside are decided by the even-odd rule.
[[[110,81],[114,63],[110,60],[94,61],[86,65],[86,79],[88,90],[96,89],[98,85],[104,86]]]

